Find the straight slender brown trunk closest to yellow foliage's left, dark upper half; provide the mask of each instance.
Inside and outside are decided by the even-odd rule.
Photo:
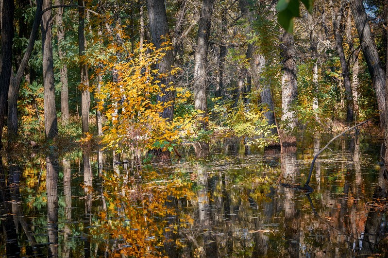
[[[78,0],[78,5],[84,6],[84,0]],[[89,92],[89,76],[87,72],[87,64],[84,62],[85,54],[85,9],[78,8],[78,47],[80,55],[80,70],[81,70],[81,119],[82,132],[89,132],[89,111],[90,111],[90,92]]]

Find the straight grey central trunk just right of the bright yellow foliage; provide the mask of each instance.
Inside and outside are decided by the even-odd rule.
[[[202,111],[199,125],[207,130],[207,50],[209,47],[209,34],[214,0],[202,0],[201,17],[198,22],[197,48],[194,59],[194,108]]]

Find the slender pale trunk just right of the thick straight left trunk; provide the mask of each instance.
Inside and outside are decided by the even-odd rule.
[[[63,4],[63,0],[54,0],[54,5],[61,5]],[[57,25],[57,39],[58,39],[58,56],[59,59],[62,61],[65,56],[66,52],[62,50],[62,43],[65,41],[65,28],[63,26],[62,22],[63,17],[63,8],[56,8],[55,12],[55,23]],[[61,118],[62,122],[65,124],[68,121],[69,118],[69,106],[68,106],[68,82],[67,82],[67,64],[66,62],[62,62],[62,67],[59,70],[60,77],[61,77]]]

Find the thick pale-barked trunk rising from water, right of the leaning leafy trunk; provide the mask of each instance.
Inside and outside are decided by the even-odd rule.
[[[297,70],[294,46],[294,37],[283,32],[281,38],[281,56],[283,63],[283,74],[282,74],[282,122],[284,126],[282,128],[281,137],[283,144],[295,144],[296,138],[292,136],[292,132],[296,129],[298,119],[295,111],[292,110],[292,104],[297,99],[298,88],[297,88]]]

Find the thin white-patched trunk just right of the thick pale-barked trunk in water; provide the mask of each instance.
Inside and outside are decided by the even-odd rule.
[[[310,31],[310,52],[312,55],[312,61],[313,61],[313,91],[314,91],[314,97],[313,97],[313,110],[315,112],[315,120],[317,122],[320,121],[319,115],[318,115],[318,42],[316,40],[315,30],[314,30],[314,19],[313,16],[307,12],[307,19],[308,19],[308,29]]]

